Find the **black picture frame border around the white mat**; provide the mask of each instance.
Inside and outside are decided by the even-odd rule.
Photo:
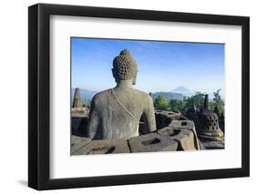
[[[50,15],[241,26],[241,168],[50,179]],[[39,190],[69,189],[250,176],[250,18],[247,16],[189,14],[78,5],[32,5],[28,7],[28,88],[28,186],[31,188]]]

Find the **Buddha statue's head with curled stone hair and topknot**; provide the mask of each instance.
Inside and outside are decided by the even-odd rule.
[[[117,83],[120,80],[132,80],[132,84],[136,84],[138,67],[127,49],[122,50],[120,55],[114,58],[112,73]]]

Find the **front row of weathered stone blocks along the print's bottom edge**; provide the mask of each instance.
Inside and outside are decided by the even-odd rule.
[[[71,141],[71,155],[200,149],[194,123],[189,120],[175,120],[165,128],[129,139],[92,140],[72,135]]]

